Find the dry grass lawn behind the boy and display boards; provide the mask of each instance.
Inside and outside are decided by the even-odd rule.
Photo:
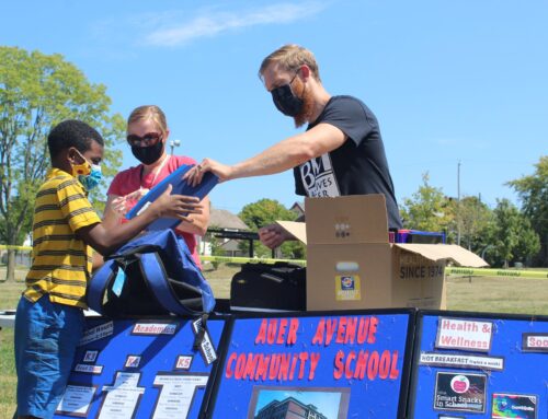
[[[216,298],[230,296],[230,278],[238,265],[221,264],[217,270],[205,266],[205,276]],[[24,287],[25,271],[16,271],[15,282],[0,282],[0,310],[15,309]],[[0,279],[5,277],[0,267]],[[548,280],[527,278],[447,279],[448,310],[492,313],[548,315]],[[0,330],[0,418],[11,418],[15,404],[15,369],[13,364],[13,329]]]

